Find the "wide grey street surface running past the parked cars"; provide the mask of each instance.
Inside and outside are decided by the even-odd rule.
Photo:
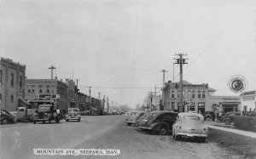
[[[215,143],[174,141],[126,126],[125,116],[84,116],[81,122],[2,125],[5,158],[230,158]],[[118,149],[119,156],[35,156],[34,148]]]

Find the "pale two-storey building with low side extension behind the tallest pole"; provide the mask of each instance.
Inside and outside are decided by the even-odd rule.
[[[191,84],[183,81],[183,112],[196,111],[240,111],[240,97],[238,96],[216,96],[216,90],[209,88],[208,84]],[[180,106],[179,82],[167,82],[163,89],[164,110],[178,111]]]

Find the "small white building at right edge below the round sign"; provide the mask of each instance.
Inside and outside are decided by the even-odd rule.
[[[241,95],[241,110],[256,111],[256,91],[244,92]]]

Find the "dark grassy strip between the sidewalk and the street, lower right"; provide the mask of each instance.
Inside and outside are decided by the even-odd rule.
[[[210,142],[215,142],[239,156],[256,158],[256,139],[237,133],[230,133],[215,128],[209,128]]]

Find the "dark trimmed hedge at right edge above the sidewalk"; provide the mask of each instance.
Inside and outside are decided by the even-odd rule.
[[[234,116],[236,128],[256,132],[256,116]]]

